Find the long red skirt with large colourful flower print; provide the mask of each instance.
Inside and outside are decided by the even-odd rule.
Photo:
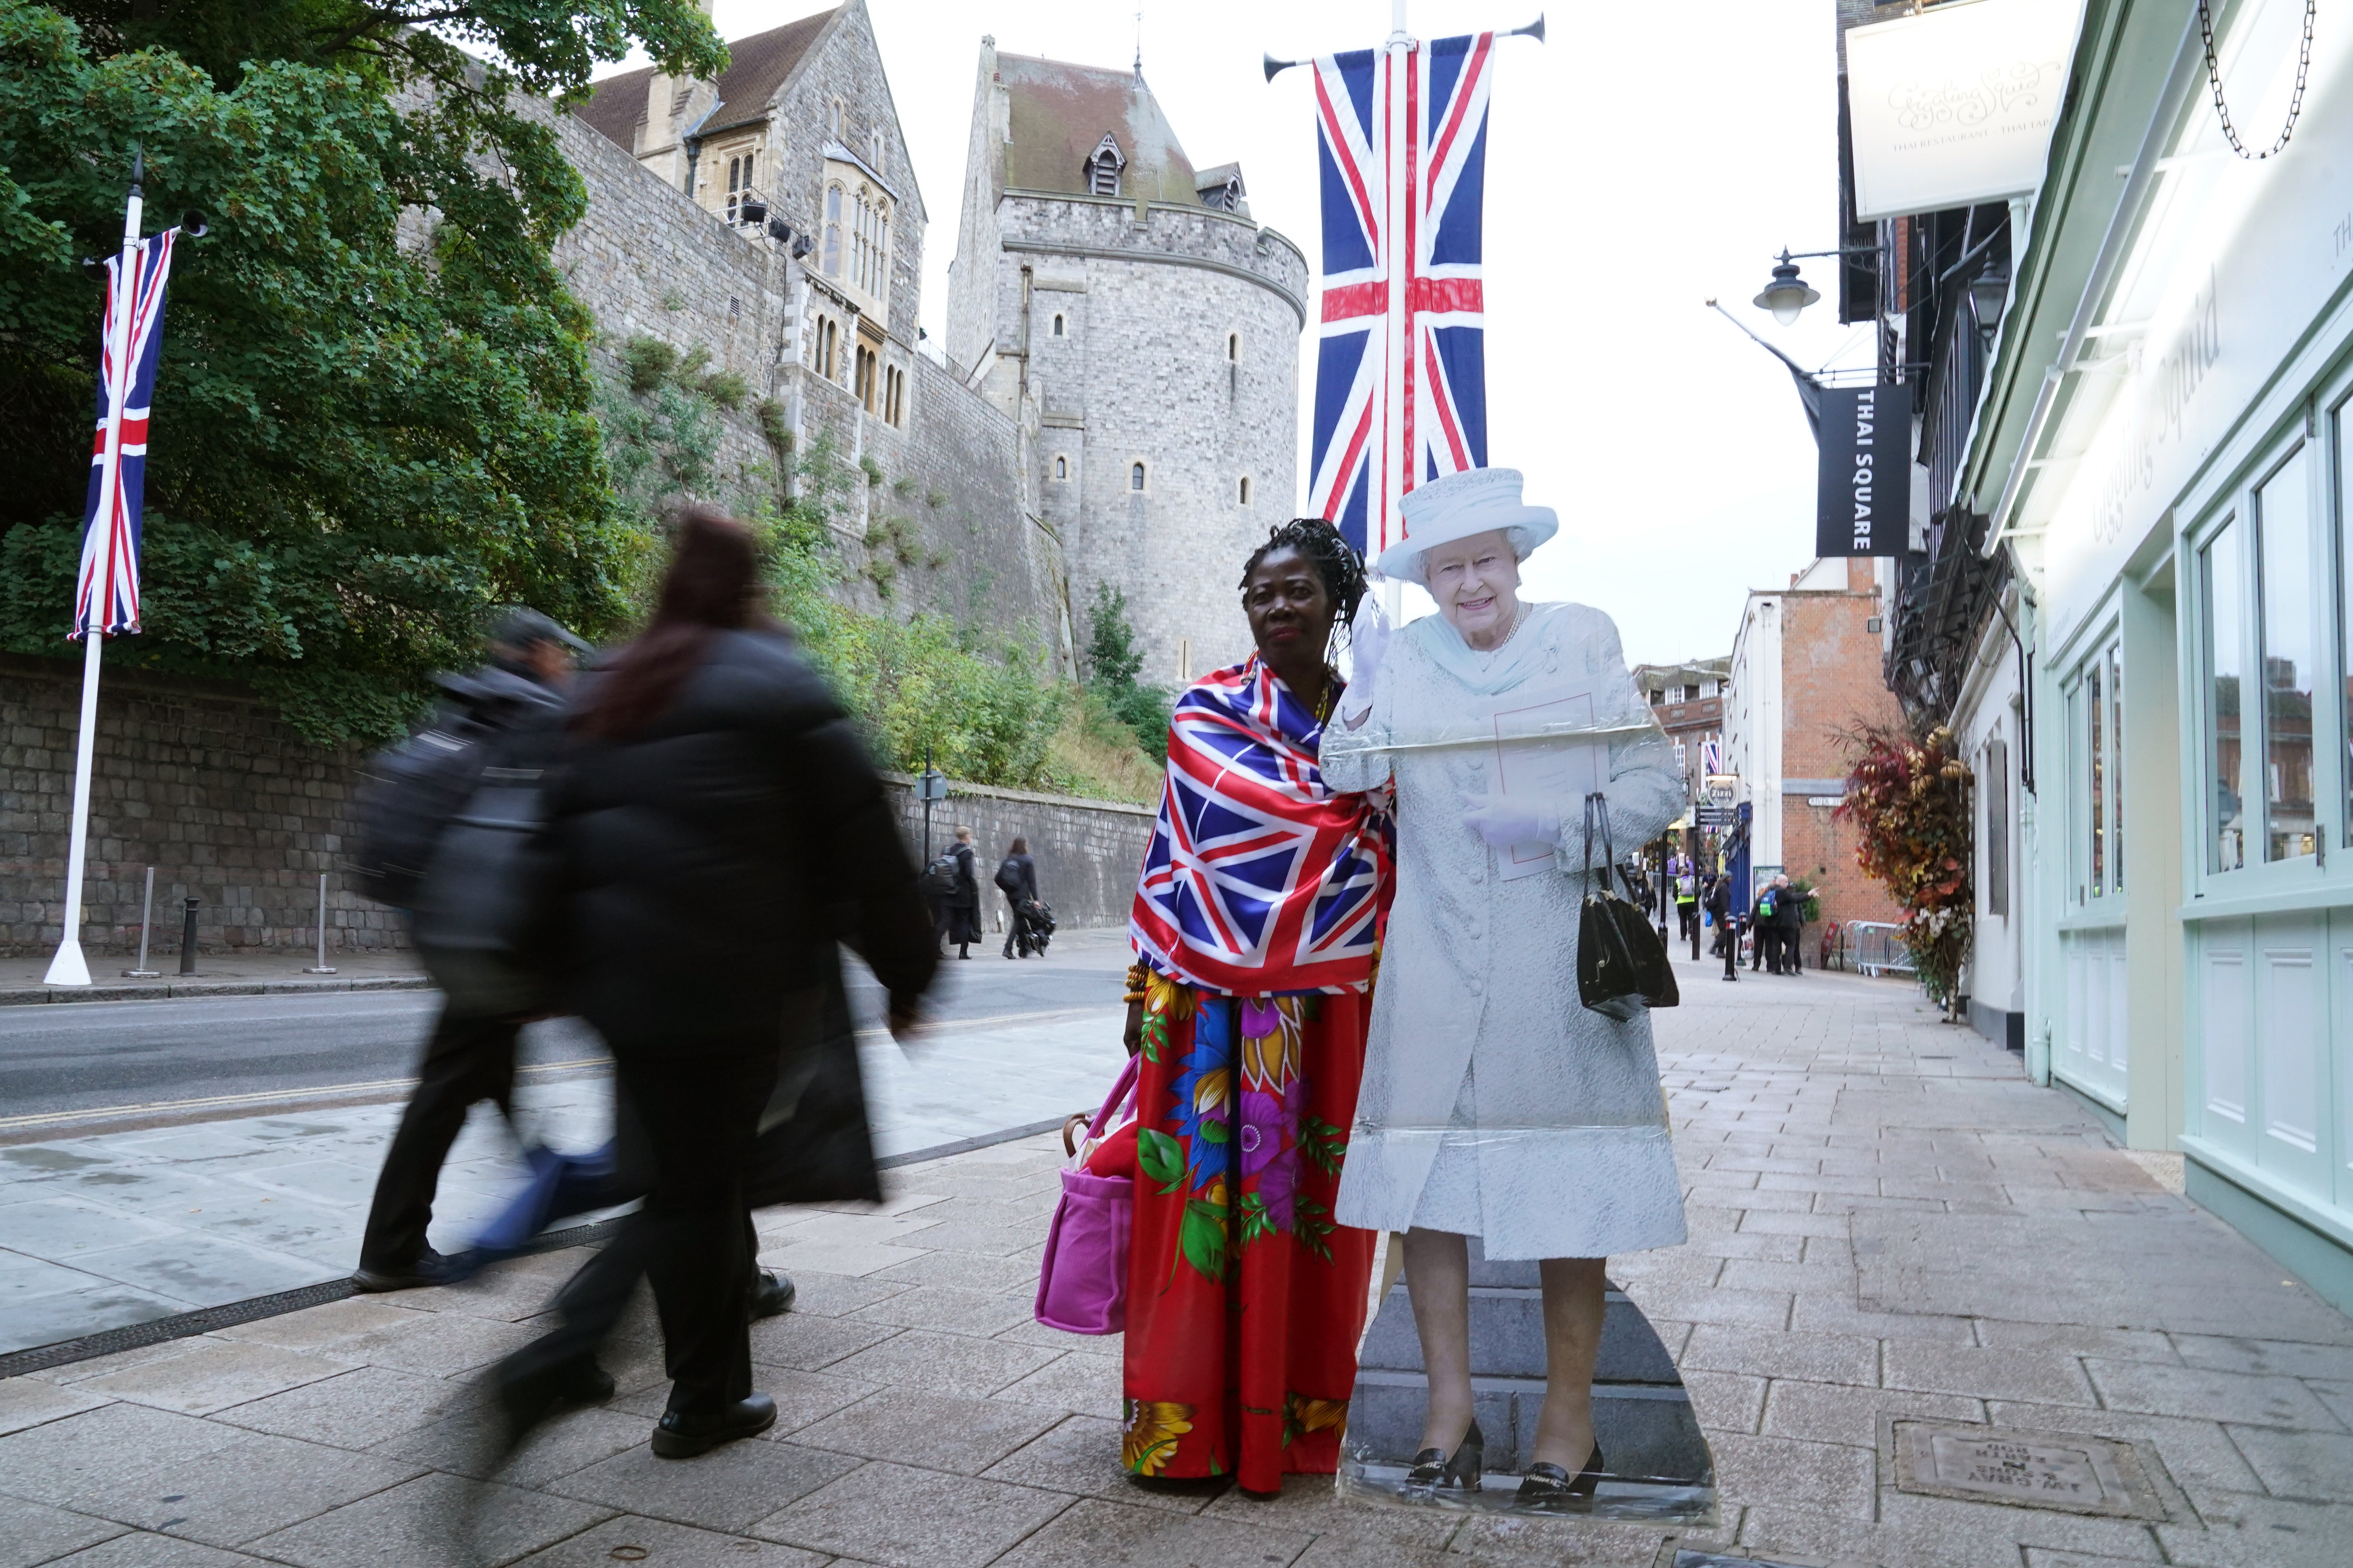
[[[1127,1436],[1139,1476],[1332,1474],[1374,1232],[1332,1220],[1362,994],[1219,997],[1153,976],[1136,1084]]]

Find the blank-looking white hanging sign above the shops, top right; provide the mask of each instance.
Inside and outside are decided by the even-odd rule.
[[[1854,216],[1969,207],[2042,181],[2075,0],[1977,0],[1847,31]]]

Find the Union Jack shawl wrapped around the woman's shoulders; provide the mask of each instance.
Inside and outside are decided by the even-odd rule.
[[[1388,903],[1384,820],[1325,788],[1322,722],[1259,663],[1176,698],[1127,919],[1160,973],[1235,997],[1360,990]]]

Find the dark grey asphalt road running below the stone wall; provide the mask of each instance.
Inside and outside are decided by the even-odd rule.
[[[1127,945],[1118,933],[1056,938],[1045,959],[1007,964],[993,947],[948,959],[934,985],[936,1023],[1118,1006]],[[880,990],[852,966],[864,1023],[880,1023]],[[325,1091],[405,1079],[440,1011],[435,992],[75,1001],[0,1009],[0,1124],[56,1112],[193,1110],[191,1100]],[[525,1030],[522,1063],[602,1058],[576,1020]],[[391,1091],[388,1091],[391,1093]],[[249,1107],[221,1107],[245,1114]]]

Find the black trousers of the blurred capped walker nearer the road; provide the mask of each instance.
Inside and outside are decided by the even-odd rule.
[[[416,1093],[400,1112],[393,1147],[384,1152],[367,1234],[360,1239],[362,1269],[400,1272],[424,1255],[440,1166],[475,1100],[494,1100],[513,1121],[520,1032],[522,1018],[466,1018],[442,1004],[416,1067]]]

